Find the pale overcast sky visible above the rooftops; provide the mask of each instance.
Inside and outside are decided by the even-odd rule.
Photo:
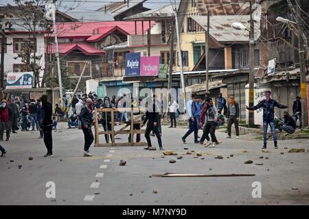
[[[78,0],[80,1],[80,0]],[[61,2],[61,11],[67,11],[69,8],[74,8],[74,10],[71,11],[76,11],[76,12],[84,12],[84,11],[91,11],[91,10],[97,10],[98,8],[101,8],[103,5],[106,3],[109,3],[111,1],[115,2],[115,0],[88,0],[91,2],[83,1],[83,2],[72,2],[72,0],[69,1],[62,1]],[[116,0],[116,1],[122,1],[122,0]],[[135,1],[135,0],[132,0]],[[172,0],[174,1],[174,0]],[[6,5],[10,3],[11,5],[14,5],[14,0],[1,0],[0,5]],[[158,8],[163,5],[169,4],[169,0],[148,0],[146,3],[144,3],[144,7],[154,9]]]

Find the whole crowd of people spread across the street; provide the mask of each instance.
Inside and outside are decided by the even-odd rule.
[[[297,127],[297,121],[293,116],[290,116],[287,111],[284,112],[284,120],[280,120],[275,116],[274,109],[279,107],[285,109],[287,106],[282,105],[271,99],[271,92],[265,92],[266,99],[260,101],[258,105],[253,107],[247,107],[247,110],[258,110],[263,108],[263,130],[264,130],[264,145],[263,149],[266,149],[267,144],[267,129],[268,125],[271,128],[273,134],[273,141],[275,149],[277,149],[277,135],[275,129],[279,131],[286,131],[286,133],[293,133]],[[123,94],[119,99],[116,96],[112,96],[110,99],[105,96],[104,99],[99,99],[98,96],[92,92],[83,95],[74,95],[71,99],[71,103],[67,100],[66,96],[62,96],[61,101],[65,109],[57,103],[54,108],[55,114],[52,114],[52,104],[47,101],[47,95],[41,96],[41,99],[25,100],[23,96],[16,97],[14,99],[3,99],[0,107],[0,141],[3,141],[4,131],[6,133],[6,141],[10,140],[10,133],[17,133],[21,131],[39,131],[39,137],[43,138],[47,153],[45,157],[52,157],[52,130],[57,129],[58,120],[62,118],[67,119],[68,128],[82,129],[84,133],[84,156],[92,156],[89,152],[89,148],[93,143],[92,125],[95,122],[94,110],[106,109],[106,108],[119,108],[119,107],[138,107],[143,105],[141,99],[133,99]],[[129,104],[129,105],[128,105]],[[157,100],[157,96],[153,95],[152,98],[146,99],[144,104],[146,107],[145,116],[141,117],[142,124],[134,124],[133,129],[141,129],[146,125],[145,138],[148,146],[145,149],[150,149],[152,143],[150,135],[157,136],[159,149],[164,150],[162,146],[162,130],[161,130],[161,116],[162,102]],[[71,108],[71,115],[67,109]],[[174,100],[168,101],[168,113],[170,114],[170,128],[176,128],[176,112],[179,109],[179,104]],[[215,100],[205,95],[205,99],[199,99],[196,94],[192,94],[192,99],[186,103],[189,130],[181,138],[183,143],[186,143],[187,136],[194,133],[194,143],[202,144],[203,146],[214,147],[221,143],[216,138],[216,129],[218,126],[227,123],[227,136],[231,138],[231,125],[234,124],[236,129],[236,139],[239,138],[239,118],[240,118],[240,105],[236,102],[235,96],[229,96],[229,102],[222,97],[220,93],[218,99]],[[129,117],[130,112],[117,111],[113,116],[115,123],[127,123],[130,125]],[[141,112],[134,112],[134,116],[139,116]],[[293,103],[293,114],[298,115],[297,119],[301,122],[301,102],[297,96],[296,101]],[[98,114],[98,123],[102,125],[104,131],[111,131],[111,112],[100,112]],[[198,136],[198,130],[203,130],[201,138]],[[210,138],[209,138],[210,134]],[[105,135],[106,143],[110,142],[111,135]],[[198,140],[199,139],[199,140]],[[141,136],[136,135],[136,142],[140,142]],[[206,140],[206,142],[205,142]],[[128,142],[131,141],[131,136],[128,137]],[[7,150],[0,145],[1,157],[7,153]]]

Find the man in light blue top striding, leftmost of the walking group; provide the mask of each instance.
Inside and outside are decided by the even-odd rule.
[[[186,144],[185,139],[192,132],[194,132],[194,143],[198,144],[198,119],[196,118],[198,113],[198,105],[196,103],[196,94],[192,94],[192,99],[187,101],[187,114],[189,114],[189,130],[185,133],[185,136],[181,138],[184,144]]]

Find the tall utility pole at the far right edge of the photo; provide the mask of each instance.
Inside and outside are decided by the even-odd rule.
[[[306,90],[306,66],[305,66],[305,47],[303,39],[303,31],[301,25],[301,10],[300,1],[296,1],[296,18],[297,18],[297,32],[298,32],[298,53],[299,53],[299,70],[300,70],[300,87],[301,87],[301,118],[303,122],[302,128],[308,126],[308,107],[307,107],[307,90]]]

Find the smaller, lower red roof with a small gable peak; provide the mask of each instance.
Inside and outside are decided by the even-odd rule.
[[[59,53],[62,55],[67,55],[71,53],[74,49],[82,51],[85,55],[103,55],[105,51],[102,49],[96,49],[91,44],[58,44]],[[46,51],[46,46],[45,46]],[[55,44],[52,44],[51,47],[52,53],[55,53]]]

